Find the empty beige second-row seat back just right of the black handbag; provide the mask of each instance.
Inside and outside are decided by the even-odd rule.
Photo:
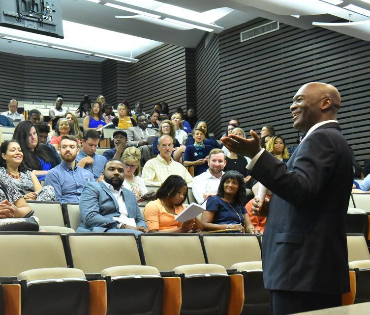
[[[59,202],[27,201],[38,217],[40,225],[64,226],[62,206]]]

